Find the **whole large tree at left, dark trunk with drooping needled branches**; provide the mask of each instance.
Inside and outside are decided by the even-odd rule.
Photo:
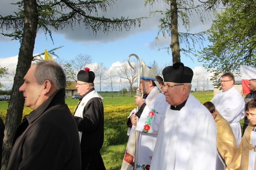
[[[115,5],[115,0],[20,0],[14,15],[2,16],[0,14],[0,34],[18,39],[21,42],[18,54],[18,63],[5,121],[5,136],[3,141],[2,169],[8,165],[14,132],[22,119],[24,97],[18,91],[23,78],[34,59],[33,50],[35,37],[39,29],[52,39],[52,30],[73,28],[82,24],[85,29],[97,35],[98,31],[129,30],[140,26],[140,20],[121,18],[106,18],[105,14]],[[98,15],[98,12],[100,15]],[[52,39],[53,40],[53,39]]]

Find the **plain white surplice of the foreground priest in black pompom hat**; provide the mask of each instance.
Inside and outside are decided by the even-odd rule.
[[[159,129],[151,170],[215,170],[216,123],[206,107],[189,95],[180,111],[168,109]]]

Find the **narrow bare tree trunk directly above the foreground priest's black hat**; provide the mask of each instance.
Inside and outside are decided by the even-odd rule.
[[[176,0],[170,0],[171,4],[171,49],[172,63],[180,62],[180,42],[178,32],[178,9]]]

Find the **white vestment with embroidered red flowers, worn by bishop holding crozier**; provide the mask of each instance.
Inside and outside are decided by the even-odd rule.
[[[147,98],[143,99],[144,102],[147,103],[149,100],[152,100],[152,96],[154,95],[156,90],[158,90],[158,88],[154,87],[150,94],[148,94]],[[163,121],[163,118],[165,117],[166,110],[169,106],[165,99],[165,95],[163,95],[159,91],[159,93],[153,98],[150,104],[147,104],[144,107],[140,119],[137,122],[136,131],[140,132],[138,139],[137,169],[143,169],[145,168],[145,166],[151,164],[151,159],[155,148],[158,130]],[[152,114],[152,112],[155,112],[154,116],[150,115]],[[132,113],[134,113],[134,111],[131,112],[131,114]],[[148,131],[145,131],[146,126],[147,128],[150,126],[150,129]],[[134,128],[135,127],[132,126],[132,128],[128,129],[127,134],[130,135],[130,138],[128,140],[127,147],[129,147],[129,142],[132,133],[135,133]]]

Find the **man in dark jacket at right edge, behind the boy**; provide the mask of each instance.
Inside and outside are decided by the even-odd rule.
[[[250,89],[251,92],[245,96],[245,99],[244,99],[245,104],[248,103],[250,100],[256,98],[256,79],[249,80],[248,88]],[[249,121],[248,121],[247,117],[245,116],[242,134],[244,134],[244,131],[247,128],[248,124],[249,124]]]

